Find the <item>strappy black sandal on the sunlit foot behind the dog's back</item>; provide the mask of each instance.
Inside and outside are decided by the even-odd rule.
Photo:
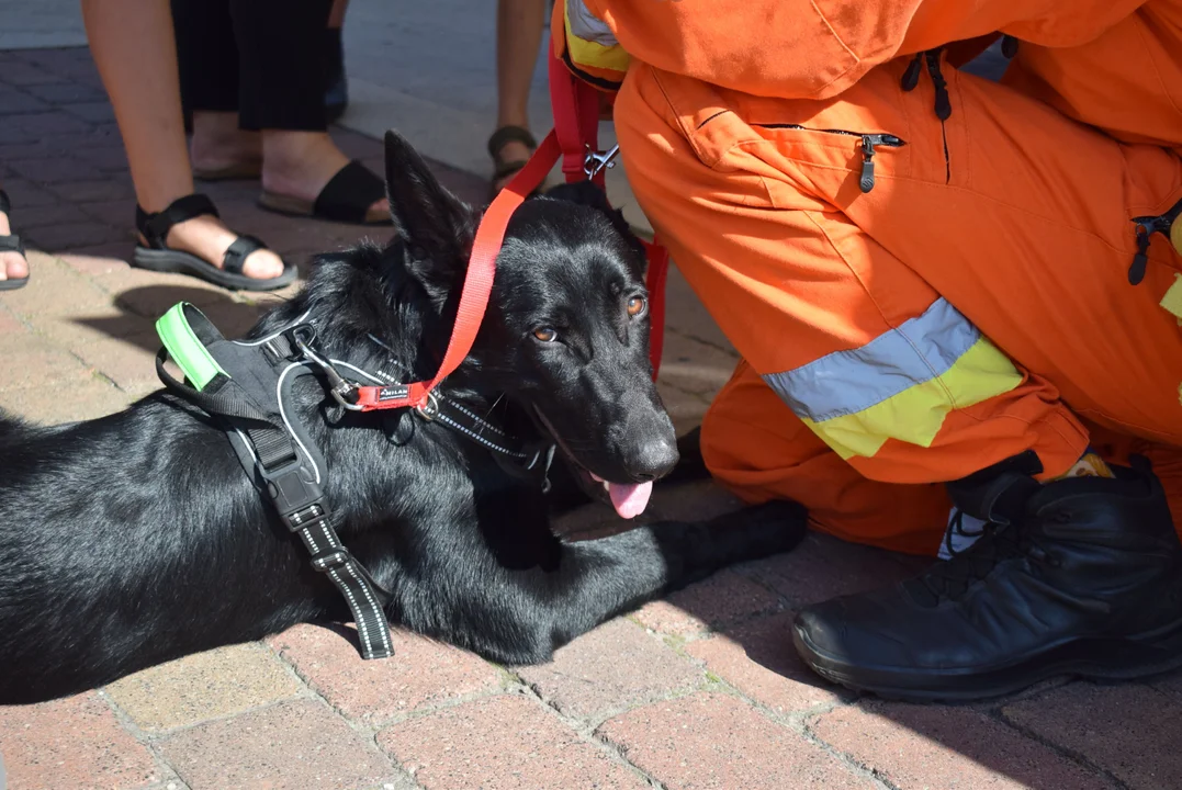
[[[296,267],[286,261],[284,262],[284,273],[269,280],[248,278],[242,274],[242,265],[246,262],[247,255],[267,248],[254,236],[240,235],[222,256],[222,268],[220,269],[193,253],[168,247],[168,231],[173,229],[173,226],[204,215],[219,216],[213,201],[204,195],[180,197],[163,211],[156,214],[148,214],[139,205],[136,205],[136,228],[148,241],[148,247],[136,244],[134,265],[152,272],[190,274],[223,288],[236,290],[274,290],[296,279]]]

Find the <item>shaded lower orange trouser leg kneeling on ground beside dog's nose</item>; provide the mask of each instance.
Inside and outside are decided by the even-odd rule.
[[[935,555],[952,503],[940,483],[881,483],[859,475],[739,363],[702,420],[710,474],[747,502],[792,500],[813,527],[846,541]]]

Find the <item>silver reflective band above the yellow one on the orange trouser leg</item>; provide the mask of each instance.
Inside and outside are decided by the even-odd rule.
[[[797,417],[821,423],[859,411],[930,381],[981,338],[944,299],[860,348],[836,351],[803,367],[764,380]]]

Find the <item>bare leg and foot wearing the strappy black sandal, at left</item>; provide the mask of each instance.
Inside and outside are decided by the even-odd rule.
[[[145,211],[160,211],[193,192],[171,11],[167,0],[82,0],[82,11],[95,65],[115,106],[136,200]],[[235,239],[219,220],[204,216],[175,226],[168,244],[220,267]],[[253,253],[243,267],[251,278],[281,273],[282,262],[269,250]]]

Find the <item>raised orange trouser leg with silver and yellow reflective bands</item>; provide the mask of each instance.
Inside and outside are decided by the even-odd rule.
[[[1076,412],[1182,443],[1182,333],[1157,305],[1180,261],[1157,239],[1144,281],[1126,274],[1130,218],[1182,200],[1178,156],[948,66],[942,123],[927,72],[901,89],[905,66],[829,102],[629,72],[629,181],[723,332],[877,481],[1025,450],[1061,474],[1089,440]],[[891,137],[871,151],[868,133]]]

